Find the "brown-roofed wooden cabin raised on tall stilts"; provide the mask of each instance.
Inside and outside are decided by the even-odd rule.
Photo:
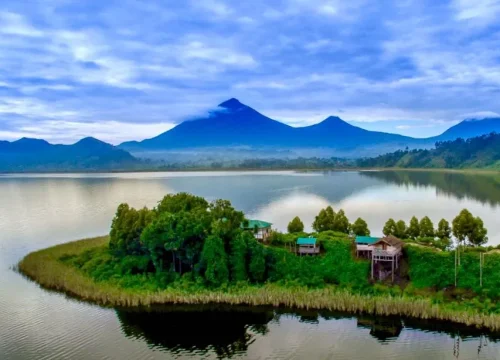
[[[383,280],[391,274],[394,281],[394,271],[399,268],[403,256],[403,244],[397,237],[389,235],[371,245],[372,279],[377,277]]]

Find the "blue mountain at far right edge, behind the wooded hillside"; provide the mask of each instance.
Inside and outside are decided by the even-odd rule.
[[[435,139],[437,141],[469,139],[492,132],[500,134],[500,118],[467,119],[452,126]]]

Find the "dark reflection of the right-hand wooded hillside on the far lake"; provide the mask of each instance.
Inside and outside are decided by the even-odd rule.
[[[500,204],[500,174],[465,174],[440,171],[363,171],[362,176],[405,186],[434,187],[438,196],[471,198],[481,204]]]

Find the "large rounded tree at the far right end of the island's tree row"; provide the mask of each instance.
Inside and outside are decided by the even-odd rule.
[[[487,233],[483,220],[474,217],[467,209],[463,209],[453,219],[453,235],[458,239],[459,243],[468,242],[472,246],[483,245],[488,242]]]

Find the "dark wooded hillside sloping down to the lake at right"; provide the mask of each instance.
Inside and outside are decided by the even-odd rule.
[[[360,159],[357,165],[370,168],[500,169],[500,134],[437,142],[436,148],[431,150],[399,150]]]

